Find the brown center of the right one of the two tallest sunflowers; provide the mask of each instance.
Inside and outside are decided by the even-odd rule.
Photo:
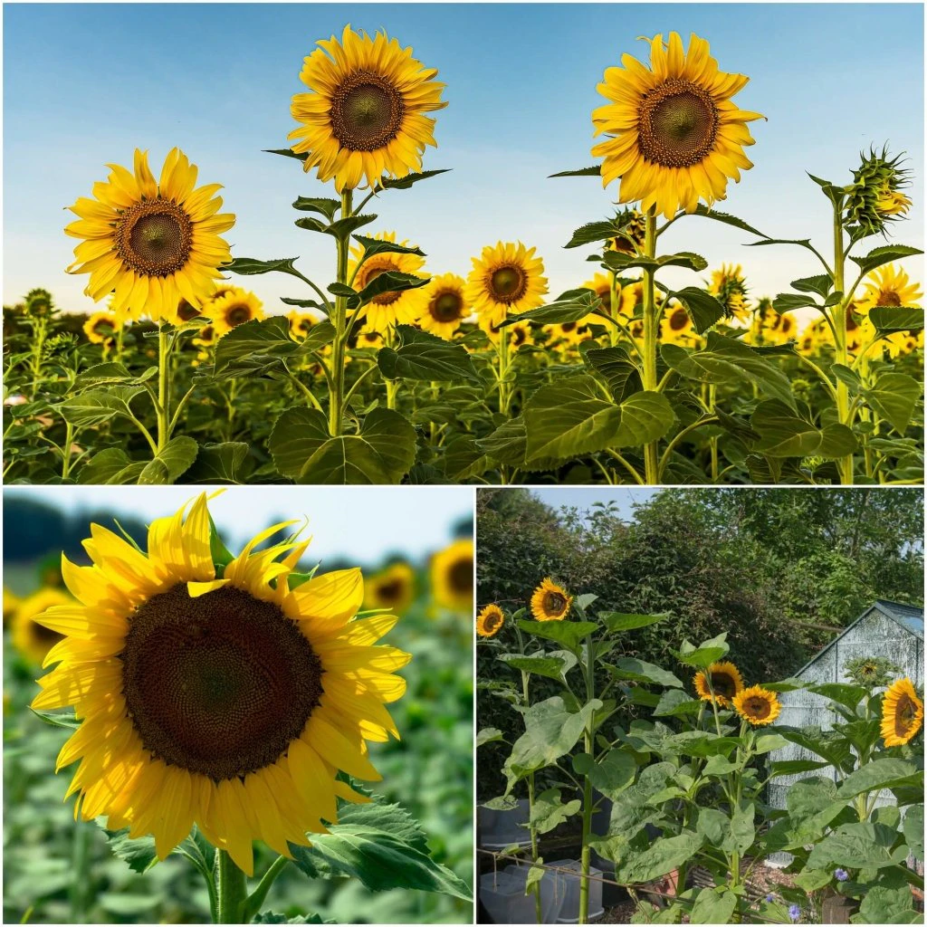
[[[712,96],[692,81],[671,77],[644,95],[638,108],[638,146],[662,167],[692,167],[715,144],[718,119]]]

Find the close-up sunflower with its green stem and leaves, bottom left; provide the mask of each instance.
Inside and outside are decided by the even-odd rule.
[[[284,870],[469,900],[364,784],[382,778],[368,742],[400,736],[386,705],[411,654],[377,643],[397,617],[362,611],[360,569],[300,571],[309,542],[280,540],[296,524],[234,554],[203,494],[153,521],[146,549],[93,525],[91,565],[62,557],[73,598],[33,617],[57,643],[32,710],[69,733],[55,768],[77,764],[77,827],[135,872],[184,857],[213,923],[286,920],[266,908]]]

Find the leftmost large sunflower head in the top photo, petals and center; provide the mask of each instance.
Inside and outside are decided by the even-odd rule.
[[[171,149],[159,181],[138,149],[134,172],[107,166],[112,173],[94,184],[94,198],[70,207],[79,220],[65,232],[84,241],[68,273],[89,273],[84,292],[97,302],[113,293],[119,318],[176,322],[181,298],[199,307],[215,290],[220,267],[231,260],[220,235],[235,216],[219,212],[220,184],[195,188],[197,167],[179,148]]]

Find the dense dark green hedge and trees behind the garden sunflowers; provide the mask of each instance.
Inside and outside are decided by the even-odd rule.
[[[682,678],[669,648],[727,631],[730,659],[748,683],[782,679],[872,599],[921,602],[921,506],[919,490],[663,490],[626,523],[607,506],[554,513],[525,489],[480,490],[477,604],[511,613],[552,576],[574,594],[598,595],[593,611],[668,613],[629,632],[616,655]],[[514,649],[511,628],[499,640]],[[479,679],[513,675],[489,647],[477,648]],[[552,680],[531,685],[532,701],[559,692]],[[484,727],[510,741],[520,733],[511,706],[481,691]],[[502,793],[508,750],[479,748],[480,800]]]

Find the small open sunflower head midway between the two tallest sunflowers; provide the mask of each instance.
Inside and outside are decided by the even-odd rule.
[[[498,325],[507,315],[537,309],[547,292],[544,261],[518,242],[487,245],[467,277],[465,296],[480,317]]]

